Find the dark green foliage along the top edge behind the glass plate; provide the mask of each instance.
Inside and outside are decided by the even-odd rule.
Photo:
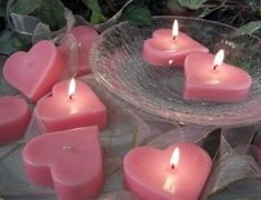
[[[0,53],[24,49],[30,39],[21,38],[7,27],[6,4],[0,0]],[[48,24],[52,31],[66,26],[64,8],[80,14],[91,23],[107,22],[129,0],[14,0],[11,12],[20,16],[32,16]],[[152,23],[153,16],[173,14],[204,18],[239,27],[241,30],[261,37],[260,0],[132,0],[124,7],[119,21],[128,20],[133,26]]]

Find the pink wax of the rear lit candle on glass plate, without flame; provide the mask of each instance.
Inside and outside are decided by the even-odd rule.
[[[183,66],[185,57],[193,52],[209,49],[182,32],[173,39],[171,29],[159,29],[144,41],[142,58],[154,66]]]

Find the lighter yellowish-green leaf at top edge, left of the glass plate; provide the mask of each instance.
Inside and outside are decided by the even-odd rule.
[[[101,23],[107,21],[107,18],[102,14],[98,0],[82,0],[82,2],[92,11],[91,23]]]

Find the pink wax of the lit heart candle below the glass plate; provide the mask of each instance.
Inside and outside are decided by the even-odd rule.
[[[172,168],[175,148],[179,160]],[[165,150],[139,147],[124,157],[124,183],[141,199],[197,200],[211,166],[208,153],[194,144],[175,143]]]

